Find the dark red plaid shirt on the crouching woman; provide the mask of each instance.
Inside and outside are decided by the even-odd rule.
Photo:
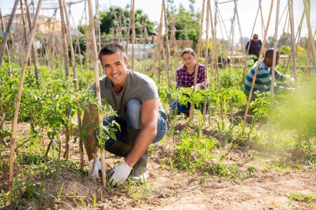
[[[200,86],[200,89],[204,89],[204,72],[205,66],[203,64],[198,64],[197,70],[197,85]],[[207,79],[207,87],[210,85],[209,77]],[[186,70],[186,66],[180,67],[177,69],[177,88],[180,87],[191,87],[194,81],[194,72],[189,74]]]

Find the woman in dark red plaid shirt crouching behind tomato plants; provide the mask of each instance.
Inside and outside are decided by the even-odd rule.
[[[184,63],[183,67],[179,67],[177,69],[177,88],[181,89],[183,87],[193,88],[194,82],[194,72],[196,65],[196,58],[194,50],[191,48],[185,48],[181,52],[182,61]],[[203,64],[198,63],[197,70],[197,84],[196,88],[204,89],[204,74],[205,74],[205,66]],[[207,86],[209,85],[209,78],[207,77]],[[175,109],[176,102],[172,103],[172,109]],[[203,106],[201,110],[203,110]],[[195,107],[197,108],[197,107]],[[183,113],[186,116],[189,115],[190,111],[190,103],[180,104],[177,106],[178,114]],[[208,105],[206,106],[206,110],[208,109]]]

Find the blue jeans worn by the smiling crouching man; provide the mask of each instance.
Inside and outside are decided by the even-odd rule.
[[[133,128],[133,129],[143,129],[143,125],[141,122],[141,105],[142,102],[140,102],[138,99],[131,99],[127,102],[126,106],[126,120],[121,118],[120,116],[108,116],[103,119],[103,125],[109,125],[113,120],[115,120],[121,128],[121,131],[119,131],[118,127],[114,125],[113,127],[118,130],[115,133],[115,136],[118,140],[121,140],[122,142],[129,143],[128,140],[128,132],[127,127]],[[167,132],[167,122],[166,120],[158,114],[158,122],[157,122],[157,134],[152,140],[151,143],[157,143],[159,142],[166,134]],[[113,138],[109,138],[107,142],[105,143],[105,148],[111,146],[114,143]]]

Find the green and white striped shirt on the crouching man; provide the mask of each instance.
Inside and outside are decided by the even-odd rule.
[[[250,92],[252,79],[256,71],[257,64],[258,64],[258,61],[252,66],[252,68],[248,72],[247,77],[245,79],[244,91],[246,93]],[[264,91],[269,91],[271,88],[271,77],[270,77],[271,74],[272,74],[272,68],[271,67],[268,68],[264,63],[264,59],[262,59],[259,63],[259,69],[258,69],[255,85],[253,87],[253,92],[257,90],[260,93]],[[285,75],[275,70],[275,79],[278,81],[285,81]],[[295,88],[287,88],[287,87],[274,84],[274,93],[289,94],[289,93],[292,93],[294,90]]]

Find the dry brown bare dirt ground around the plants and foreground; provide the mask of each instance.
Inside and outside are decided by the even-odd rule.
[[[18,125],[18,135],[27,135],[29,124]],[[169,141],[171,142],[171,141]],[[171,143],[169,143],[171,144]],[[310,195],[316,193],[316,172],[312,168],[302,166],[301,170],[267,167],[265,172],[262,164],[269,163],[272,158],[296,162],[296,154],[280,153],[278,156],[260,153],[251,147],[227,146],[228,155],[222,157],[222,163],[238,164],[239,170],[247,172],[247,166],[255,170],[252,174],[238,179],[207,177],[201,174],[188,174],[177,168],[170,170],[172,146],[162,144],[155,147],[149,158],[149,181],[146,185],[148,196],[142,196],[144,186],[125,186],[106,194],[102,184],[97,181],[84,182],[70,170],[58,175],[55,180],[44,180],[44,203],[39,209],[85,209],[83,202],[92,209],[311,209],[315,208],[306,200],[291,199],[291,193]],[[77,143],[70,144],[70,160],[79,162]],[[63,153],[62,153],[63,154]],[[123,159],[106,154],[106,166],[112,169]],[[264,162],[264,163],[263,163]],[[88,159],[85,155],[86,170]],[[7,178],[7,177],[6,177]],[[0,180],[1,189],[8,190],[8,180]],[[39,184],[41,180],[38,180]],[[56,202],[53,196],[61,189],[62,199]],[[76,189],[76,198],[73,192]],[[96,206],[93,205],[93,195]],[[82,197],[83,202],[79,198]],[[103,197],[103,201],[101,201]],[[89,199],[90,198],[90,199]],[[1,201],[2,202],[2,201]],[[21,208],[24,208],[21,206]]]

